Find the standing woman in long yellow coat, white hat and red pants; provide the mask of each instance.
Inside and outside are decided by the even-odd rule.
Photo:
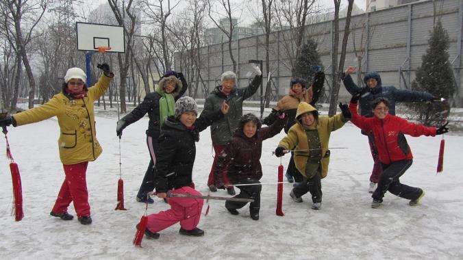
[[[67,209],[74,203],[81,224],[90,224],[90,205],[86,184],[88,161],[95,161],[101,154],[101,146],[95,131],[93,103],[110,86],[114,74],[108,64],[99,66],[103,74],[92,88],[87,88],[86,74],[80,68],[70,68],[64,76],[62,92],[49,102],[13,116],[7,116],[3,125],[27,125],[56,116],[60,125],[60,159],[64,168],[64,181],[50,215],[62,220],[72,220]]]

